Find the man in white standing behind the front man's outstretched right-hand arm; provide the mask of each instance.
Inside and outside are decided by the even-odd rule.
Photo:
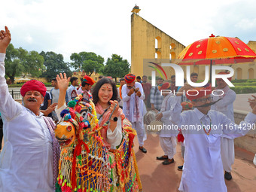
[[[218,74],[227,74],[226,72],[220,72]],[[228,79],[231,81],[231,78]],[[234,116],[233,116],[233,102],[236,100],[236,93],[228,87],[227,83],[223,81],[222,79],[216,79],[217,81],[217,87],[215,87],[215,90],[220,90],[215,92],[215,96],[213,96],[213,101],[217,101],[218,99],[221,99],[220,101],[216,102],[215,105],[212,105],[212,110],[220,111],[221,113],[225,114],[230,120],[235,122]],[[221,95],[223,94],[223,95]],[[220,95],[220,96],[218,96]],[[224,177],[227,180],[230,180],[232,178],[231,175],[231,166],[234,163],[235,160],[235,149],[234,149],[234,143],[233,139],[228,139],[225,137],[221,138],[221,159],[223,168],[225,170]]]

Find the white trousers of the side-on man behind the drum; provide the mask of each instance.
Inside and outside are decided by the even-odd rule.
[[[171,137],[159,137],[161,148],[163,149],[164,155],[168,156],[168,159],[172,159],[176,154],[176,138],[175,136]]]

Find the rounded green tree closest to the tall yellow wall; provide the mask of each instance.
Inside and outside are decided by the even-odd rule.
[[[126,59],[123,60],[123,57],[117,54],[112,54],[112,58],[108,58],[106,62],[103,74],[115,78],[115,81],[117,82],[117,78],[123,78],[129,73],[129,70],[130,64]]]

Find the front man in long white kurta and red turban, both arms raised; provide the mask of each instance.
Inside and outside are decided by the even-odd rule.
[[[170,115],[172,123],[181,128],[186,148],[178,190],[226,192],[221,160],[221,137],[233,139],[248,133],[256,122],[256,96],[254,99],[248,99],[252,112],[248,113],[240,125],[236,125],[223,113],[210,110],[215,102],[212,101],[212,89],[209,84],[196,88],[185,85],[178,91],[178,99],[181,99],[183,91],[193,104],[194,110],[181,113],[181,103],[177,102]]]

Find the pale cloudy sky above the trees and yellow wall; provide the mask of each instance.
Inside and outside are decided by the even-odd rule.
[[[0,27],[9,27],[14,47],[61,53],[112,53],[131,60],[130,15],[140,16],[187,46],[214,35],[256,41],[256,1],[8,0],[1,3]]]

